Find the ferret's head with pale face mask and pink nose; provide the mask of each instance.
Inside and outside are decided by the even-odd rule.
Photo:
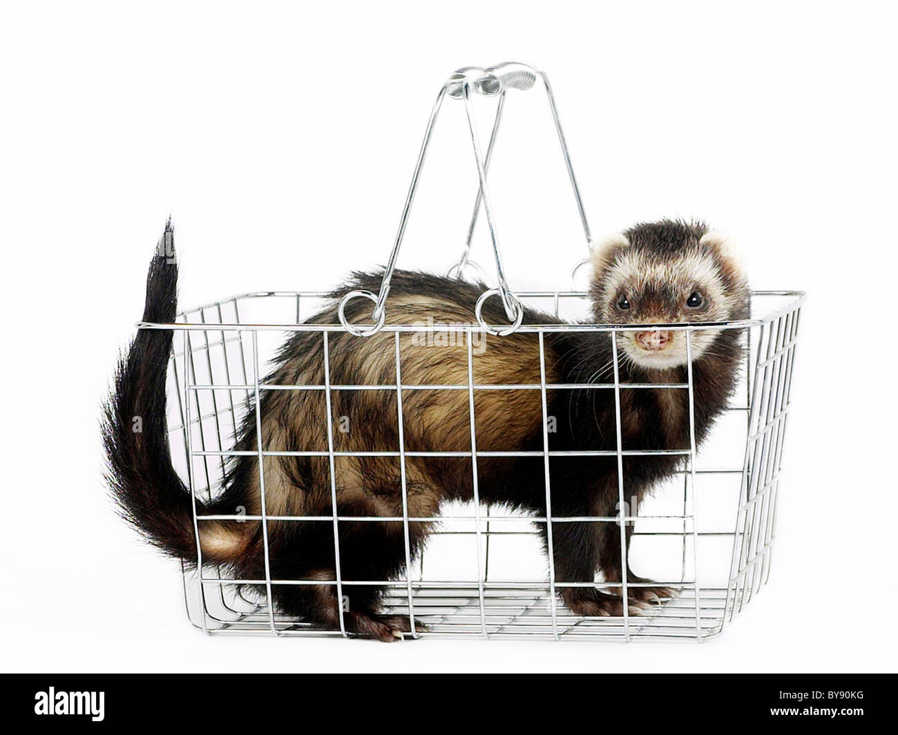
[[[748,316],[748,286],[730,244],[701,224],[664,220],[629,228],[593,250],[590,296],[597,323],[724,322]],[[692,359],[721,330],[692,332]],[[640,368],[686,364],[686,332],[617,332],[618,349]]]

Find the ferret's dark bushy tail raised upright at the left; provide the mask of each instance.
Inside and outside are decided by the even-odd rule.
[[[177,288],[170,220],[146,276],[143,321],[173,323]],[[127,354],[119,359],[103,406],[102,438],[107,480],[122,517],[163,552],[196,562],[193,500],[172,466],[166,422],[165,382],[172,336],[168,329],[137,331]],[[197,512],[209,509],[197,500]],[[226,561],[216,558],[220,550],[203,546],[204,561]]]

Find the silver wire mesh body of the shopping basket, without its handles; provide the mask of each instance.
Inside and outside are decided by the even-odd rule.
[[[677,597],[652,608],[649,615],[631,615],[625,605],[619,617],[583,617],[572,615],[558,597],[559,588],[568,586],[609,587],[601,580],[594,583],[558,582],[553,565],[541,552],[538,524],[565,522],[568,518],[551,517],[551,477],[548,441],[543,451],[547,489],[547,512],[542,518],[525,516],[502,507],[480,506],[477,494],[477,459],[502,454],[522,456],[532,452],[479,452],[474,431],[474,394],[479,390],[508,389],[538,391],[542,398],[543,430],[547,426],[546,393],[561,387],[583,390],[587,386],[559,386],[546,382],[543,338],[547,332],[582,330],[606,332],[615,327],[576,323],[574,317],[584,311],[585,294],[579,292],[540,292],[518,294],[525,302],[566,323],[523,324],[520,332],[539,335],[541,382],[534,385],[480,385],[473,381],[471,333],[468,331],[469,379],[467,385],[440,385],[441,389],[463,390],[468,394],[471,416],[470,452],[430,452],[433,456],[471,458],[475,501],[447,503],[436,517],[409,517],[405,488],[406,457],[413,454],[404,447],[402,395],[434,386],[406,385],[401,378],[400,334],[421,329],[420,325],[389,324],[383,332],[395,334],[396,385],[331,385],[328,364],[329,335],[345,332],[340,324],[304,324],[302,320],[321,306],[317,292],[271,292],[245,294],[180,314],[176,325],[142,324],[143,328],[172,329],[174,350],[170,365],[170,438],[176,468],[198,500],[209,500],[222,491],[226,458],[234,451],[234,438],[246,412],[260,411],[260,395],[267,390],[315,390],[326,396],[328,448],[301,454],[326,456],[330,461],[332,514],[330,517],[266,515],[264,482],[260,516],[233,516],[234,520],[257,519],[265,535],[265,579],[235,580],[225,568],[203,564],[198,568],[183,565],[184,596],[191,622],[214,634],[346,635],[340,618],[339,628],[313,630],[301,618],[280,614],[272,607],[272,587],[283,584],[316,584],[321,580],[280,580],[270,574],[267,543],[269,520],[295,523],[329,522],[334,538],[339,537],[340,522],[358,520],[337,512],[337,489],[333,463],[337,456],[358,453],[334,449],[331,393],[343,390],[390,390],[397,394],[400,446],[394,451],[375,454],[399,457],[402,472],[403,513],[395,518],[365,518],[370,522],[401,521],[405,530],[408,570],[401,579],[342,579],[337,563],[335,580],[339,598],[353,585],[376,583],[388,589],[388,612],[412,615],[427,624],[420,636],[466,635],[486,638],[542,637],[556,640],[602,638],[637,640],[705,640],[720,633],[753,598],[770,574],[770,556],[776,536],[776,509],[779,478],[783,466],[783,440],[788,420],[792,370],[798,335],[798,319],[803,300],[798,292],[755,292],[750,320],[716,325],[720,329],[738,329],[744,335],[746,360],[737,393],[712,430],[700,453],[694,439],[691,364],[684,384],[662,390],[685,390],[690,396],[691,447],[664,450],[683,456],[682,469],[673,480],[629,510],[623,498],[622,457],[641,450],[622,449],[620,440],[620,392],[648,385],[622,383],[614,370],[614,382],[607,387],[617,398],[618,445],[616,451],[594,454],[617,456],[621,488],[621,513],[614,518],[577,518],[569,520],[594,523],[633,524],[629,560],[641,576],[679,591]],[[687,345],[695,325],[680,327],[687,333]],[[274,350],[285,332],[320,332],[323,385],[267,385],[264,375]],[[364,340],[365,337],[353,339]],[[612,340],[612,344],[614,341]],[[615,352],[616,357],[616,352]],[[588,387],[595,388],[595,385]],[[650,387],[658,389],[656,385]],[[258,414],[257,414],[258,415]],[[405,418],[405,421],[413,417]],[[256,422],[257,427],[260,421]],[[276,455],[258,444],[261,457]],[[655,450],[656,452],[659,450]],[[589,454],[584,450],[583,454]],[[645,452],[644,452],[645,453]],[[244,453],[247,454],[247,453]],[[248,454],[256,455],[257,452]],[[261,473],[260,473],[261,474]],[[216,517],[218,518],[218,517]],[[207,519],[194,510],[194,524]],[[412,558],[409,551],[409,522],[433,520],[438,523],[427,551]],[[549,530],[548,553],[552,558]],[[339,542],[335,543],[339,560]],[[192,560],[196,562],[197,560]],[[628,586],[624,579],[624,586]],[[644,583],[643,583],[644,584]],[[636,586],[629,582],[629,586]],[[262,589],[261,594],[250,591]],[[620,588],[619,588],[620,589]],[[626,596],[624,596],[626,597]]]

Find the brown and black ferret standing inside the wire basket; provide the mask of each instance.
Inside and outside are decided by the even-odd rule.
[[[178,269],[173,231],[166,226],[164,247],[157,249],[147,283],[144,321],[174,323]],[[747,318],[749,291],[744,272],[726,239],[702,223],[664,220],[638,224],[594,246],[589,300],[592,323],[719,323]],[[308,321],[338,324],[337,301],[353,289],[376,293],[383,273],[357,273],[330,298],[331,306]],[[482,283],[423,272],[396,270],[386,300],[386,323],[470,323]],[[349,323],[367,324],[371,305],[348,302]],[[506,323],[499,299],[485,302],[487,323]],[[524,307],[524,323],[561,323],[557,317]],[[685,332],[648,327],[614,332],[546,332],[544,370],[547,416],[543,431],[541,391],[475,390],[476,450],[532,451],[535,456],[477,457],[480,501],[546,516],[543,436],[549,449],[605,450],[618,446],[612,334],[619,354],[621,447],[689,449],[688,391],[676,388],[627,388],[629,383],[671,384],[687,380]],[[474,384],[540,384],[539,336],[513,333],[483,335],[482,349],[472,355]],[[395,385],[395,336],[378,332],[357,337],[330,332],[330,385]],[[467,385],[468,345],[464,340],[422,346],[413,332],[402,332],[403,385]],[[709,327],[692,333],[694,434],[700,443],[732,394],[742,355],[739,331]],[[163,552],[196,564],[197,533],[193,505],[203,515],[233,520],[198,521],[202,562],[225,565],[238,580],[266,578],[266,539],[260,516],[257,456],[235,456],[214,500],[192,499],[172,466],[166,424],[166,368],[172,331],[137,332],[119,361],[110,398],[104,407],[103,440],[108,478],[121,514]],[[320,332],[294,332],[281,347],[263,385],[324,385]],[[551,384],[594,384],[604,388],[564,389]],[[257,436],[267,451],[320,451],[329,445],[328,411],[322,390],[262,390],[261,419],[254,397],[235,449],[257,452]],[[473,500],[471,415],[467,390],[406,390],[401,395],[405,452],[459,452],[467,456],[406,456],[409,518],[431,518],[450,500]],[[133,430],[134,417],[142,431]],[[337,452],[399,450],[395,390],[331,391],[333,449]],[[261,421],[257,428],[257,421]],[[348,429],[348,430],[340,430]],[[676,455],[623,456],[624,496],[643,497],[659,481],[682,468]],[[333,460],[339,517],[403,515],[398,456],[335,456]],[[301,617],[317,629],[339,630],[331,474],[328,456],[266,456],[264,494],[269,517],[321,516],[321,520],[270,519],[267,545],[272,595],[278,610]],[[615,517],[618,514],[617,456],[550,456],[552,518]],[[245,509],[250,519],[239,518]],[[433,522],[410,521],[410,553],[427,540]],[[537,523],[548,548],[547,524]],[[629,614],[641,614],[660,598],[674,594],[629,569],[621,554],[621,529],[611,521],[551,524],[554,579],[559,596],[575,615],[622,615],[626,580]],[[339,572],[342,581],[395,580],[405,572],[405,531],[401,520],[340,520]],[[632,524],[626,525],[626,538]],[[621,557],[624,557],[623,559]],[[590,583],[601,572],[603,589],[565,586]],[[320,580],[321,584],[277,584],[278,580]],[[343,612],[347,633],[392,642],[411,633],[409,618],[384,615],[383,585],[346,585]],[[346,607],[346,606],[344,606]],[[425,629],[416,624],[417,630]]]

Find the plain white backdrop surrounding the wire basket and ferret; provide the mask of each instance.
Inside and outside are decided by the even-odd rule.
[[[893,13],[5,4],[0,666],[894,670]],[[101,482],[99,405],[165,218],[182,306],[330,288],[385,261],[445,76],[508,59],[549,73],[597,235],[701,217],[737,236],[755,288],[810,294],[770,585],[704,645],[205,637],[175,565],[119,522]],[[449,101],[401,265],[442,270],[461,252],[465,135]],[[544,102],[509,93],[501,135],[509,279],[563,287],[585,246]]]

